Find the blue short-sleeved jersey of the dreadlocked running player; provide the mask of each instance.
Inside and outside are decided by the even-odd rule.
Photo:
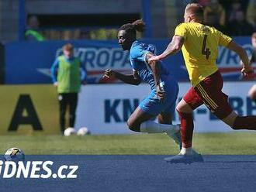
[[[131,66],[133,67],[133,70],[137,70],[138,74],[140,75],[140,78],[143,81],[146,81],[153,90],[155,88],[154,75],[146,62],[147,53],[155,54],[155,46],[151,44],[141,43],[139,41],[134,41],[130,48],[130,63]],[[168,72],[161,69],[161,84],[164,84],[164,79],[166,79],[167,75]]]

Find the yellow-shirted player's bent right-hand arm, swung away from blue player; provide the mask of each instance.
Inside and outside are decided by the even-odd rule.
[[[242,61],[242,66],[243,66],[241,72],[244,77],[246,77],[249,74],[254,73],[254,70],[250,66],[250,62],[249,62],[247,53],[243,47],[241,47],[240,45],[235,43],[234,40],[231,40],[230,43],[227,45],[227,48],[229,50],[233,50],[234,52],[236,52],[239,55],[240,60]]]

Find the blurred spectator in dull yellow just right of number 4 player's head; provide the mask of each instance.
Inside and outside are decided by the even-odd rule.
[[[218,0],[210,0],[203,14],[204,14],[204,21],[206,23],[209,22],[209,16],[215,15],[219,25],[220,26],[225,25],[226,12],[225,12],[225,9],[223,9],[223,6],[220,5]]]

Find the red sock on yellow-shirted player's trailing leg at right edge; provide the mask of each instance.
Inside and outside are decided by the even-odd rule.
[[[256,130],[256,116],[245,116],[245,117],[237,116],[232,128]]]

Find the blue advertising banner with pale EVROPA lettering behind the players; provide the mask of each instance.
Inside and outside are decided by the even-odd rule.
[[[242,45],[249,56],[252,46],[249,37],[234,38]],[[169,39],[145,39],[145,43],[157,46],[157,53],[162,53],[168,46]],[[51,83],[50,66],[61,54],[61,47],[67,41],[48,41],[40,43],[16,42],[5,45],[5,84],[47,84]],[[120,49],[116,41],[81,40],[71,41],[74,44],[74,55],[88,70],[88,83],[102,83],[103,71],[106,68],[119,70],[123,73],[131,71],[129,53]],[[240,60],[234,52],[220,47],[219,58],[216,60],[224,80],[240,79]],[[188,81],[182,53],[168,57],[163,67],[174,74],[178,81]]]

